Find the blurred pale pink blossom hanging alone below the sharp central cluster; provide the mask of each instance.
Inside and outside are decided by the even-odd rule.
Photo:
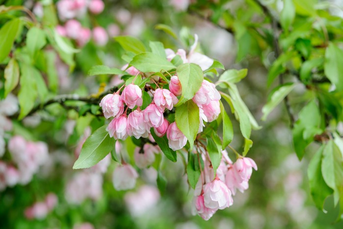
[[[117,166],[113,172],[112,182],[116,190],[132,189],[136,185],[138,173],[131,165]]]

